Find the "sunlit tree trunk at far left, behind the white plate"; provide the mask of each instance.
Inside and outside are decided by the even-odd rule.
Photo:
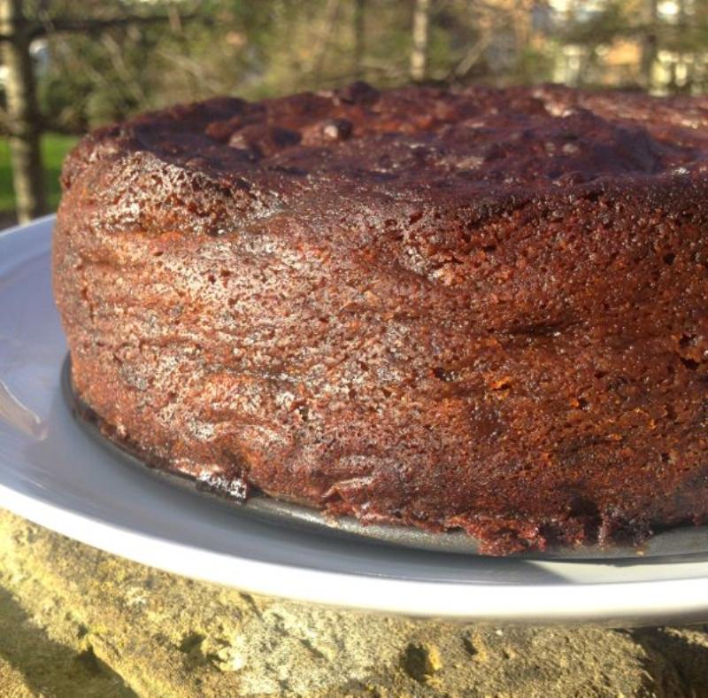
[[[40,116],[35,90],[35,73],[29,52],[27,21],[22,0],[0,0],[0,34],[7,68],[5,95],[10,132],[12,180],[20,223],[46,213],[44,171],[40,150]]]

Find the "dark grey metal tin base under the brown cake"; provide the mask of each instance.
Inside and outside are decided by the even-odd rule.
[[[458,555],[483,555],[480,541],[464,531],[433,532],[404,525],[362,524],[351,516],[334,518],[324,516],[317,509],[296,502],[276,500],[263,492],[252,492],[245,500],[228,496],[194,477],[160,469],[142,458],[142,455],[109,438],[102,429],[100,415],[89,407],[73,388],[71,357],[67,354],[61,369],[61,387],[67,406],[76,423],[98,444],[110,451],[116,461],[129,467],[148,472],[166,484],[178,486],[199,497],[210,498],[215,506],[226,507],[237,515],[256,516],[261,520],[278,525],[298,525],[320,535],[335,535],[342,539],[366,538],[374,543],[425,550],[433,553],[454,553]],[[534,560],[631,560],[637,558],[652,560],[690,555],[708,554],[708,526],[680,526],[656,532],[643,544],[627,545],[549,547],[543,553],[517,553],[512,557]],[[647,561],[649,562],[649,561]]]

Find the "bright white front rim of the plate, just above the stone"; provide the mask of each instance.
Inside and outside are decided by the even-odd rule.
[[[672,622],[706,618],[708,598],[705,578],[658,579],[643,582],[611,582],[588,585],[491,585],[460,584],[456,582],[426,582],[417,579],[396,579],[372,575],[343,574],[330,570],[311,570],[288,566],[288,574],[295,593],[283,593],[278,581],[283,565],[272,562],[235,558],[189,545],[135,533],[117,524],[107,524],[89,515],[78,515],[49,502],[27,497],[25,494],[0,485],[0,507],[27,518],[68,538],[108,552],[127,560],[139,562],[183,577],[217,583],[241,591],[266,596],[288,598],[339,608],[395,613],[412,617],[440,617],[469,621],[517,623],[568,623],[572,621],[623,624],[641,618],[642,622],[656,623],[661,619]],[[57,517],[57,514],[60,516]],[[90,525],[87,526],[86,524]],[[87,532],[89,531],[89,532]],[[152,544],[146,550],[146,539]],[[155,553],[158,552],[156,556]],[[186,554],[186,555],[185,555]],[[187,562],[189,561],[191,562]],[[200,575],[199,562],[209,575]],[[213,573],[213,563],[222,563],[220,573]],[[233,562],[241,568],[238,583],[232,577]],[[275,579],[276,581],[272,581]],[[324,582],[324,584],[323,584]],[[663,599],[660,609],[650,604],[671,586],[672,594]],[[443,587],[443,588],[441,588]],[[316,590],[308,593],[304,590]],[[342,590],[346,590],[342,593]],[[578,612],[576,596],[582,590],[586,599],[599,597],[595,608]],[[441,592],[445,592],[441,594]],[[484,596],[483,608],[470,608],[465,603],[468,595]],[[529,607],[529,594],[535,597],[535,607]],[[425,609],[416,609],[420,595],[428,599]],[[437,601],[431,602],[430,598]],[[612,599],[612,601],[609,601]],[[467,606],[467,608],[465,608]],[[586,607],[592,606],[591,603]]]

